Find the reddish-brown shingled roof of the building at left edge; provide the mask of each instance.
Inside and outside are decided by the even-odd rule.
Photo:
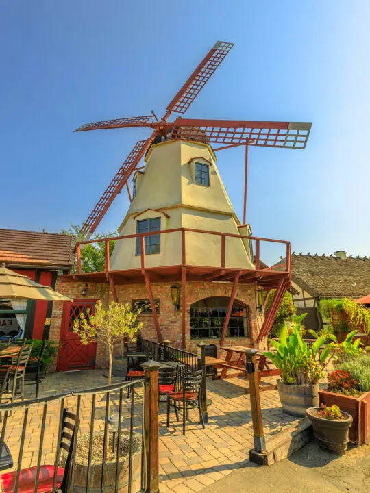
[[[75,237],[59,233],[38,233],[0,229],[0,263],[8,268],[33,267],[70,270]]]

